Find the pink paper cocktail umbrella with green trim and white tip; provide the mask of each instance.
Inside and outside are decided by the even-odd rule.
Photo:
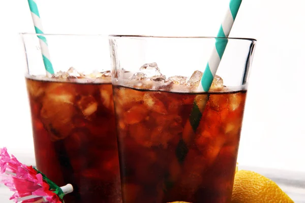
[[[0,149],[0,183],[15,193],[10,199],[15,202],[62,203],[63,197],[73,191],[71,184],[58,187],[33,166],[20,163],[7,148]]]

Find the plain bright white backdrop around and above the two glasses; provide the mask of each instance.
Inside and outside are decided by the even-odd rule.
[[[216,36],[229,0],[37,3],[46,33]],[[242,165],[305,171],[304,9],[303,0],[244,0],[240,8],[230,37],[258,40],[238,156]],[[0,147],[33,164],[18,36],[34,31],[26,0],[2,1],[0,30]]]

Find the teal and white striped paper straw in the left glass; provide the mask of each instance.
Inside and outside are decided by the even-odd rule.
[[[38,12],[37,4],[34,0],[27,0],[27,1],[28,1],[29,9],[31,10],[32,19],[33,19],[33,23],[34,23],[34,27],[35,27],[35,32],[37,34],[43,34],[43,28],[42,28],[42,23],[41,23],[40,15]],[[48,49],[47,39],[41,35],[38,35],[37,37],[39,38],[42,59],[43,59],[44,65],[45,65],[47,76],[51,76],[52,74],[54,74],[54,70],[53,70],[52,63],[50,61],[50,53],[49,53],[49,49]]]

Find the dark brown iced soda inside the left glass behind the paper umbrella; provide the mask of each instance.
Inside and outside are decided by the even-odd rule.
[[[112,86],[26,78],[38,170],[66,203],[121,202]]]

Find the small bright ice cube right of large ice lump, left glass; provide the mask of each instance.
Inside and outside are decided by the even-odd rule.
[[[82,96],[80,100],[77,101],[77,105],[86,117],[94,114],[98,110],[98,103],[92,95]]]

